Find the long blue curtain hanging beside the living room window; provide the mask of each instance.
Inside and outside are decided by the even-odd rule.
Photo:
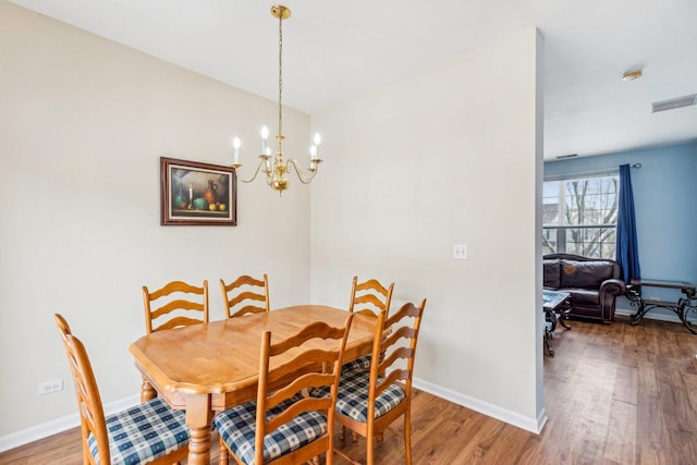
[[[636,220],[634,218],[634,193],[629,166],[620,167],[620,206],[617,210],[616,261],[622,270],[622,279],[629,283],[640,279],[639,252],[636,240]]]

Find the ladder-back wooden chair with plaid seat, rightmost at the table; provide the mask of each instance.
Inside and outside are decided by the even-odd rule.
[[[412,376],[416,342],[426,299],[417,307],[405,304],[391,317],[378,316],[369,371],[342,374],[337,399],[337,421],[366,438],[367,465],[375,463],[375,440],[384,429],[404,416],[405,463],[412,463]],[[411,325],[409,325],[411,320]],[[380,354],[383,354],[380,357]],[[348,461],[351,457],[337,450]],[[355,463],[355,462],[354,462]]]

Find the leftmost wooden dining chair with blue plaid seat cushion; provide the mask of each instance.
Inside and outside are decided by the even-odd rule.
[[[160,399],[105,417],[97,380],[85,345],[56,314],[77,395],[85,464],[172,464],[188,454],[184,411]]]

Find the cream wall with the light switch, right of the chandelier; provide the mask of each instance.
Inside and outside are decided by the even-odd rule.
[[[331,154],[313,186],[313,301],[346,305],[353,274],[394,281],[393,308],[427,297],[419,386],[530,430],[543,423],[540,44],[527,29],[313,115]]]

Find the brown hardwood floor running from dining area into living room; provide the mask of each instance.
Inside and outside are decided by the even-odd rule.
[[[697,464],[697,335],[678,323],[627,321],[572,321],[554,332],[539,436],[417,392],[414,464]],[[401,433],[398,420],[376,448],[379,464],[404,463]],[[78,437],[73,429],[8,451],[0,464],[80,464]],[[363,438],[338,446],[365,460]]]

